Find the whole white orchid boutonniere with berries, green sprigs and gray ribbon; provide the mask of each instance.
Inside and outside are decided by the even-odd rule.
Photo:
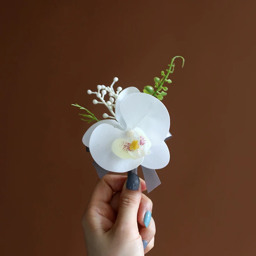
[[[93,104],[105,105],[108,113],[103,113],[103,120],[96,118],[88,109],[82,120],[92,123],[85,132],[83,143],[94,160],[93,165],[102,178],[108,172],[136,172],[141,165],[148,192],[161,184],[155,169],[164,168],[170,160],[169,149],[165,143],[172,137],[170,116],[162,103],[167,95],[166,84],[174,71],[174,60],[184,58],[176,56],[169,68],[161,72],[162,78],[154,77],[155,85],[147,85],[143,92],[136,87],[117,87],[114,77],[110,86],[97,85],[97,90],[88,90],[94,95]]]

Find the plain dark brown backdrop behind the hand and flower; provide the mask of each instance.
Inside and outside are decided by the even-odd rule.
[[[9,1],[1,5],[1,255],[85,255],[97,175],[87,89],[141,90],[171,58],[170,164],[149,194],[148,255],[256,254],[255,1]],[[103,113],[95,107],[96,116]],[[254,130],[252,129],[252,132]],[[253,134],[253,133],[252,133]]]

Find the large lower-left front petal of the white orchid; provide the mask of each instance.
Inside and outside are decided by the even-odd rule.
[[[101,124],[93,130],[89,147],[92,158],[100,167],[110,172],[128,172],[142,163],[144,157],[122,159],[112,152],[112,143],[116,139],[123,138],[125,134],[125,131],[109,124]]]

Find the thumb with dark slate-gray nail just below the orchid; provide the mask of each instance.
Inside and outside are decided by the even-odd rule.
[[[136,227],[137,214],[141,200],[141,184],[139,176],[130,171],[128,178],[124,183],[118,208],[118,214],[115,225],[118,227]]]

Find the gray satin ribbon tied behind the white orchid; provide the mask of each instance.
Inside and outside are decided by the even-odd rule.
[[[167,137],[164,141],[167,141],[171,138],[172,138],[172,134],[171,134],[171,136]],[[90,149],[86,147],[86,151],[90,152]],[[94,168],[96,169],[96,172],[98,173],[100,179],[108,173],[107,170],[100,167],[100,165],[97,164],[95,161],[93,161],[92,164],[93,164]],[[141,169],[142,169],[142,172],[143,172],[143,175],[144,175],[144,180],[146,182],[147,191],[149,193],[153,189],[155,189],[157,186],[159,186],[161,184],[161,181],[159,180],[159,178],[157,176],[156,170],[146,168],[142,165],[141,165]],[[137,173],[137,170],[138,170],[138,168],[135,168],[131,172]]]

